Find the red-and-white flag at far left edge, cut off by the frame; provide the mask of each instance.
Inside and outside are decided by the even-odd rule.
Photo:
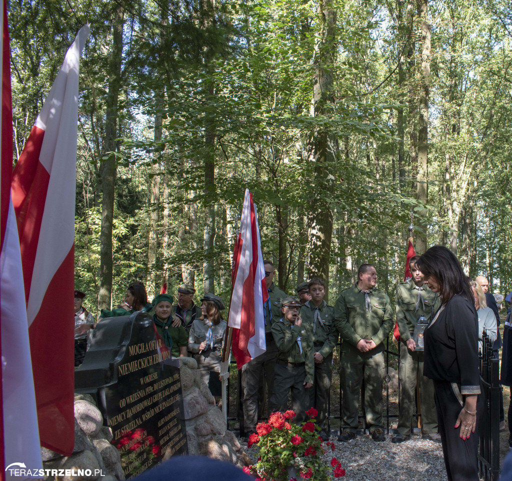
[[[19,252],[16,216],[11,200],[12,107],[9,62],[7,0],[2,1],[0,21],[2,42],[2,166],[0,168],[0,478],[11,476],[12,463],[25,463],[29,469],[42,469],[35,405],[29,330],[23,295],[22,258]],[[9,466],[11,467],[10,469]],[[12,473],[14,474],[14,473]]]

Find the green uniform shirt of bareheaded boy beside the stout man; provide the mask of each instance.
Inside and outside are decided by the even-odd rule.
[[[314,348],[315,353],[320,353],[322,356],[327,357],[332,353],[332,350],[338,342],[339,333],[334,327],[334,308],[332,305],[327,305],[323,300],[318,306],[321,322],[319,320],[315,323],[315,310],[316,306],[313,301],[307,301],[301,309],[302,321],[306,322],[313,334],[313,345],[318,343],[324,344],[321,348]]]

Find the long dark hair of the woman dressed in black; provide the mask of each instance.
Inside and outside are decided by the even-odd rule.
[[[473,304],[473,292],[459,259],[444,246],[433,246],[416,261],[416,267],[425,277],[439,281],[439,295],[443,303],[459,294]]]

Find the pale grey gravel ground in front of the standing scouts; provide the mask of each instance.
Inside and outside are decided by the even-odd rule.
[[[345,477],[338,479],[346,481],[447,479],[440,444],[421,439],[419,434],[413,434],[409,441],[400,444],[393,444],[392,437],[388,435],[385,443],[376,443],[367,434],[340,443],[332,436],[330,441],[334,441],[336,449],[334,452],[329,449],[325,460],[330,464],[331,458],[336,457],[346,471]],[[240,444],[246,446],[241,440]],[[254,445],[245,451],[255,462],[258,447]]]

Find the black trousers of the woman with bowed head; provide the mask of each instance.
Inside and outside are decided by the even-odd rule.
[[[443,446],[444,464],[449,481],[478,481],[478,419],[482,412],[482,396],[478,396],[477,428],[465,441],[455,423],[464,405],[456,384],[434,381],[437,422]]]

